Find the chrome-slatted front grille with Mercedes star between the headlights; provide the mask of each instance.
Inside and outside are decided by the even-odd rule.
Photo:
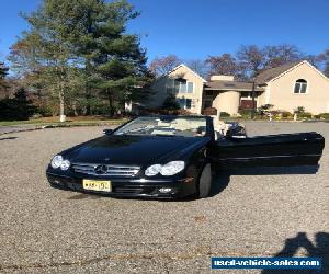
[[[100,163],[72,163],[72,169],[77,173],[98,175],[98,176],[134,176],[140,167],[100,164]]]

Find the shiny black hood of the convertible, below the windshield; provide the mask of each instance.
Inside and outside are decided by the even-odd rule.
[[[148,165],[182,159],[208,141],[206,137],[105,135],[64,153],[71,162]]]

